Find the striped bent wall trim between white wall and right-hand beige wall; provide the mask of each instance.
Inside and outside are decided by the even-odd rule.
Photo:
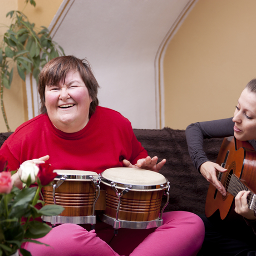
[[[179,30],[181,24],[194,8],[198,0],[189,0],[180,13],[179,17],[169,29],[164,40],[161,42],[155,57],[155,95],[156,95],[156,129],[165,127],[165,101],[164,101],[164,57],[170,41]]]

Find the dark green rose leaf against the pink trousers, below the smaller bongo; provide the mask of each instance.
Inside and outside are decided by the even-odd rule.
[[[25,238],[41,238],[45,237],[51,231],[51,227],[40,221],[30,221],[28,229],[24,235]]]

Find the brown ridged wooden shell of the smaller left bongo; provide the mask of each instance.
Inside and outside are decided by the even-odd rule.
[[[57,180],[53,181],[56,184]],[[55,189],[56,204],[65,208],[60,216],[90,216],[93,214],[95,201],[95,186],[92,181],[65,180]],[[43,188],[43,201],[45,204],[54,204],[53,188]]]

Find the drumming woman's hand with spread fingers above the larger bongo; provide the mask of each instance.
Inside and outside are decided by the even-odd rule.
[[[150,171],[156,171],[156,173],[158,173],[166,163],[166,159],[163,159],[160,163],[156,164],[157,160],[158,160],[157,156],[154,156],[152,158],[150,156],[147,156],[146,158],[137,160],[137,164],[135,165],[132,165],[130,161],[126,159],[123,160],[123,163],[125,167],[146,169]]]

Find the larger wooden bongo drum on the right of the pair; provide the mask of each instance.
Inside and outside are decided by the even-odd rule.
[[[102,221],[115,229],[147,229],[163,224],[161,217],[169,203],[170,188],[163,175],[137,168],[111,168],[101,176],[101,189],[106,190]],[[167,201],[161,209],[163,194]]]

